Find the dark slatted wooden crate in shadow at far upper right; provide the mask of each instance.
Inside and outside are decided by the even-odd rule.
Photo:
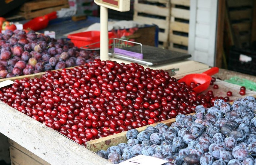
[[[227,11],[236,47],[248,47],[251,42],[253,0],[227,0]]]

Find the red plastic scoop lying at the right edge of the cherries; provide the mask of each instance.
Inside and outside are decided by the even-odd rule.
[[[212,80],[212,75],[219,72],[218,67],[212,67],[211,69],[201,73],[201,74],[188,74],[185,77],[178,80],[178,82],[185,82],[187,85],[190,85],[191,82],[200,83],[201,85],[198,85],[193,90],[197,93],[201,93],[205,91]]]

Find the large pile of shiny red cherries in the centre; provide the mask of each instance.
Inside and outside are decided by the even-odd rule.
[[[15,80],[0,99],[79,144],[208,108],[218,97],[196,94],[163,70],[95,59],[83,66]]]

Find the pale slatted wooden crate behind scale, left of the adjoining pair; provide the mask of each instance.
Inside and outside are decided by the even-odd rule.
[[[149,4],[145,4],[149,3]],[[152,4],[150,4],[152,3]],[[160,5],[155,5],[160,4]],[[170,19],[169,0],[135,0],[133,20],[143,24],[156,24],[160,31],[158,40],[163,43],[160,47],[168,47],[169,19]],[[154,18],[159,17],[159,18]],[[164,32],[163,32],[163,31]]]

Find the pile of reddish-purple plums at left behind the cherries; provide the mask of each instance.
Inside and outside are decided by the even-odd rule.
[[[34,31],[5,30],[0,33],[0,49],[0,78],[84,65],[99,58],[98,52],[80,50],[72,42]]]

